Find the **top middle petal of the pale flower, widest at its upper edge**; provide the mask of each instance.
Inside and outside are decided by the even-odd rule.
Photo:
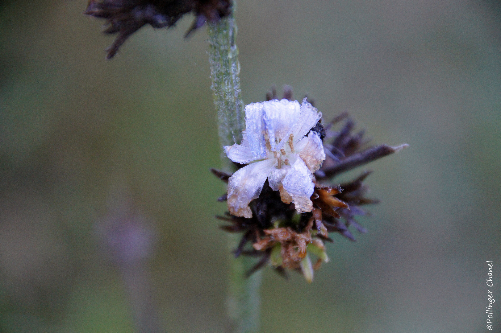
[[[263,106],[272,151],[278,151],[289,140],[294,124],[299,120],[301,106],[298,101],[289,101],[285,98],[281,101],[263,102]]]

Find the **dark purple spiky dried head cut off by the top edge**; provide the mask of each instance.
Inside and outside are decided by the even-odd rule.
[[[144,25],[170,28],[190,12],[195,20],[185,37],[206,22],[214,23],[228,16],[231,0],[89,0],[84,14],[106,19],[103,33],[118,34],[106,49],[106,58],[111,59],[127,38]]]

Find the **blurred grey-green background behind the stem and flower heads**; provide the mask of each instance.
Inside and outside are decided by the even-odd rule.
[[[0,3],[0,331],[133,332],[147,307],[162,331],[221,332],[205,29],[183,39],[191,16],[143,28],[105,61],[112,37],[85,6]],[[373,143],[410,144],[369,165],[369,233],[333,235],[312,284],[265,269],[262,332],[486,330],[485,260],[501,291],[500,13],[482,0],[238,1],[246,103],[290,84],[325,120],[348,110]]]

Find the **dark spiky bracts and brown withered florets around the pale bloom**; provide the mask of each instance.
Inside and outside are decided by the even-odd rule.
[[[283,98],[292,100],[292,88],[284,86]],[[278,99],[273,87],[267,94],[267,100]],[[312,103],[311,101],[309,101]],[[332,126],[344,121],[340,130],[332,130]],[[361,233],[367,230],[356,220],[357,215],[366,215],[363,205],[378,203],[378,200],[366,197],[368,192],[364,180],[371,171],[364,171],[350,182],[339,184],[333,177],[369,163],[377,158],[397,152],[407,145],[390,147],[387,145],[368,146],[364,139],[364,130],[353,133],[355,123],[343,113],[324,127],[321,121],[311,129],[319,134],[324,142],[326,159],[315,175],[315,190],[311,197],[313,210],[307,213],[296,213],[294,204],[282,202],[279,191],[273,191],[268,180],[263,186],[260,196],[250,202],[253,216],[244,218],[226,213],[217,218],[229,222],[221,228],[227,232],[240,232],[242,237],[238,247],[233,251],[235,257],[250,255],[259,257],[256,265],[247,272],[250,275],[268,263],[275,271],[287,277],[286,268],[302,271],[311,281],[307,265],[302,261],[308,259],[308,253],[319,258],[314,269],[320,267],[322,261],[328,261],[324,241],[332,241],[331,232],[338,232],[355,241],[349,227],[353,226]],[[237,165],[238,168],[244,165]],[[230,174],[214,169],[211,171],[221,180],[227,182]],[[226,200],[226,195],[219,201]],[[252,246],[246,246],[248,243]],[[312,265],[310,264],[310,270]]]

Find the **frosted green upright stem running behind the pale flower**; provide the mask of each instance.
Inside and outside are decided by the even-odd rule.
[[[235,3],[233,2],[233,13]],[[240,143],[245,126],[243,102],[240,94],[240,64],[235,45],[236,24],[231,16],[208,24],[209,64],[211,89],[217,111],[217,125],[221,148]],[[232,171],[233,165],[221,150],[223,169]],[[238,235],[228,236],[229,252],[237,247]],[[231,252],[230,252],[231,253]],[[228,331],[252,333],[259,329],[261,271],[246,278],[254,261],[248,257],[231,255],[228,269],[226,299]]]

